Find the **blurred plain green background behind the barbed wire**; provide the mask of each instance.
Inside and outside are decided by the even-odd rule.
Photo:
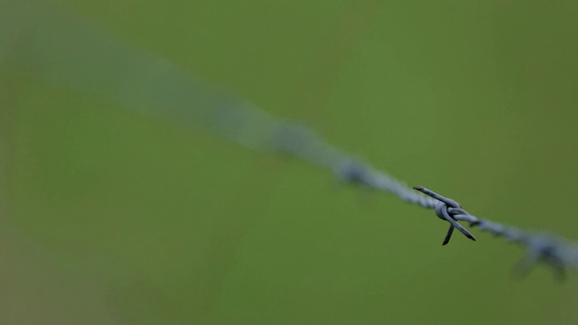
[[[574,239],[577,4],[60,2],[477,216]],[[442,247],[433,211],[9,62],[2,323],[578,320],[576,275],[513,277],[519,247]]]

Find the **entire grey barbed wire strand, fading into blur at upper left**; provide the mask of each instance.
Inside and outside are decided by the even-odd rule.
[[[576,244],[475,217],[433,190],[420,186],[412,189],[328,144],[311,128],[270,116],[242,98],[211,88],[151,53],[118,42],[98,25],[48,5],[48,1],[14,0],[0,9],[0,22],[11,27],[0,30],[0,59],[51,87],[97,95],[139,113],[209,129],[253,149],[293,155],[331,170],[343,182],[381,190],[433,209],[438,218],[450,224],[443,245],[449,243],[456,228],[475,240],[460,224],[465,222],[470,228],[524,246],[527,255],[517,267],[522,272],[538,262],[553,267],[560,277],[564,269],[578,268]],[[54,37],[58,42],[52,42]]]

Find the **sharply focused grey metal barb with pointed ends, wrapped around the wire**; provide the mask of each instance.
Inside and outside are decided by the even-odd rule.
[[[458,230],[460,230],[460,232],[465,237],[468,237],[471,240],[476,240],[476,237],[473,237],[473,235],[471,235],[471,232],[468,231],[468,229],[463,228],[463,226],[461,226],[461,224],[458,223],[458,219],[456,217],[467,214],[465,210],[461,209],[460,203],[452,199],[445,198],[442,195],[434,192],[433,190],[428,190],[422,186],[414,186],[414,189],[419,190],[425,195],[437,200],[435,204],[435,215],[437,216],[437,218],[441,218],[442,220],[450,223],[450,228],[448,229],[448,232],[445,235],[445,238],[443,239],[442,245],[447,245],[450,242],[454,228],[458,228]]]

